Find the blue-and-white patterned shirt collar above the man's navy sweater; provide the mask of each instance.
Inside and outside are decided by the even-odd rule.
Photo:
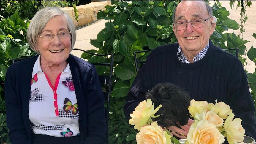
[[[193,61],[197,62],[200,59],[202,59],[205,56],[208,48],[209,48],[209,42],[203,50],[201,50],[199,53],[195,55],[195,57],[193,58]],[[181,46],[179,46],[178,48],[177,56],[178,56],[178,60],[181,61],[182,63],[186,63],[186,64],[190,63],[189,60],[186,58],[186,56],[182,53]]]

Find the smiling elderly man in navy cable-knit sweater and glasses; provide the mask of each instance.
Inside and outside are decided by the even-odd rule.
[[[242,119],[245,134],[256,139],[255,107],[247,75],[238,58],[209,40],[216,26],[211,6],[203,1],[181,1],[173,15],[173,31],[178,43],[155,48],[138,72],[124,105],[127,119],[157,83],[170,82],[183,88],[191,99],[225,102]],[[178,138],[187,136],[192,120],[172,126]]]

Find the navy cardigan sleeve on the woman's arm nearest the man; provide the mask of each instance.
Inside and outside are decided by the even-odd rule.
[[[88,135],[85,144],[104,144],[106,141],[104,96],[95,67],[92,66],[89,72],[87,75],[89,83],[86,92]]]

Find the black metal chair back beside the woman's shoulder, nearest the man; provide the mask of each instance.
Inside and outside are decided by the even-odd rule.
[[[110,97],[111,97],[111,87],[112,87],[112,76],[113,76],[113,64],[114,64],[114,54],[95,54],[86,50],[74,48],[73,50],[82,51],[82,58],[84,60],[88,60],[89,58],[93,59],[91,61],[88,60],[91,64],[93,64],[98,72],[99,80],[102,86],[102,91],[105,99],[105,117],[106,117],[106,144],[108,144],[108,123],[109,123],[109,106],[110,106]],[[110,57],[109,57],[110,56]],[[99,62],[102,61],[102,62]],[[105,72],[108,72],[108,75],[102,75]]]

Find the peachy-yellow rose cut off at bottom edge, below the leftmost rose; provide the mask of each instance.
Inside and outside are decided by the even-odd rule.
[[[137,144],[171,144],[171,137],[157,125],[157,121],[154,121],[151,125],[140,129],[136,135],[136,141]]]

